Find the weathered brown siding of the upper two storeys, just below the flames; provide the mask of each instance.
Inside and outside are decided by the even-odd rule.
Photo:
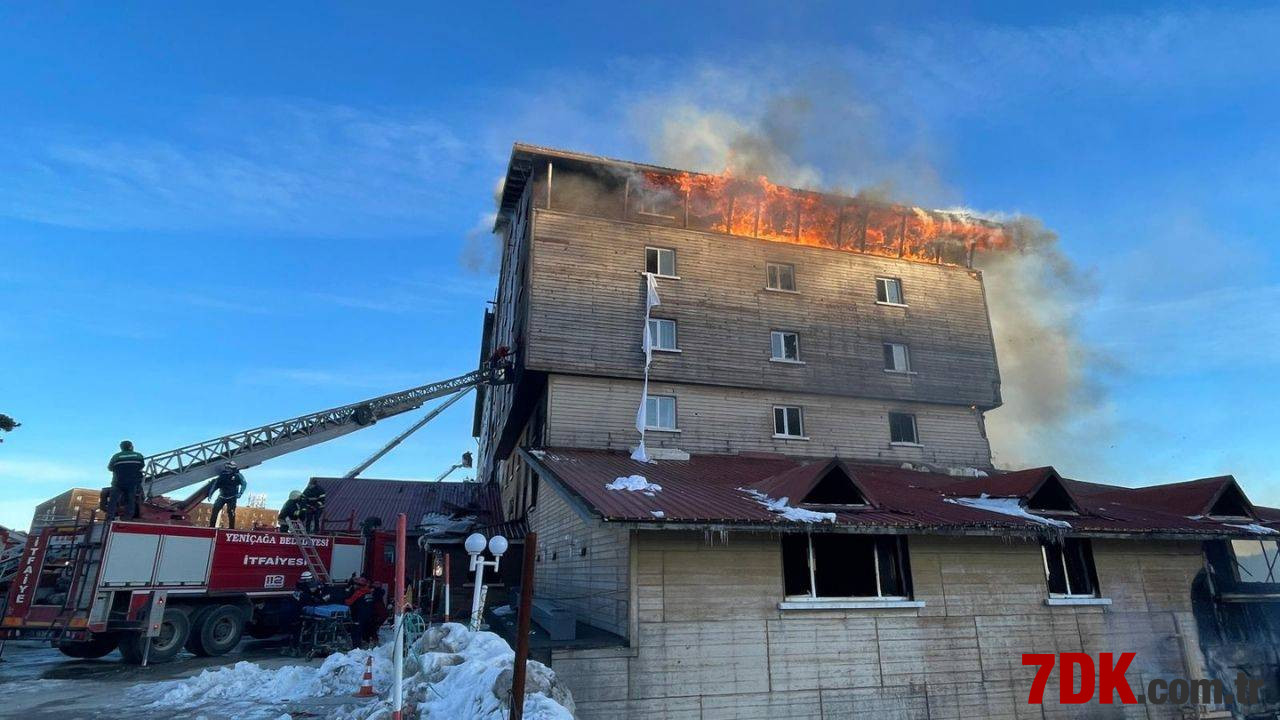
[[[995,346],[978,273],[803,245],[535,211],[530,368],[639,378],[644,249],[676,250],[655,316],[677,320],[668,382],[998,405]],[[796,268],[797,292],[765,290],[765,264]],[[900,278],[906,307],[876,302]],[[800,333],[805,365],[769,363],[769,331]],[[905,342],[918,374],[884,373],[883,342]]]

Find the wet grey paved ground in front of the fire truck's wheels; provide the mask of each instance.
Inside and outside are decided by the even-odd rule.
[[[159,683],[198,674],[207,667],[234,665],[241,660],[264,667],[305,665],[303,660],[280,655],[278,641],[246,641],[221,657],[196,657],[183,653],[172,662],[138,667],[120,661],[118,652],[101,660],[73,660],[47,643],[9,642],[0,656],[0,716],[29,720],[65,720],[84,717],[93,720],[145,720],[200,717],[265,717],[282,715],[312,717],[324,714],[321,702],[301,707],[241,707],[228,712],[220,707],[138,707],[136,694],[140,683]],[[310,662],[319,666],[320,660]]]

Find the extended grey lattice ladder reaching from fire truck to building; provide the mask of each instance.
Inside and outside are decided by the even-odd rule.
[[[436,397],[453,395],[475,386],[511,382],[511,368],[509,359],[485,364],[479,370],[448,380],[321,410],[152,455],[146,459],[146,469],[143,470],[146,496],[154,497],[207,480],[218,474],[218,469],[227,460],[234,460],[241,468],[250,468],[264,460],[366,428],[384,418],[408,413]]]

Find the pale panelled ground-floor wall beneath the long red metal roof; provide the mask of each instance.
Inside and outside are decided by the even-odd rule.
[[[1024,652],[1137,652],[1130,683],[1202,676],[1198,543],[1100,541],[1110,606],[1046,605],[1038,544],[911,537],[918,609],[778,610],[780,539],[636,532],[630,647],[556,651],[580,717],[1181,717],[1175,706],[1028,705]],[[541,569],[540,569],[541,570]]]

